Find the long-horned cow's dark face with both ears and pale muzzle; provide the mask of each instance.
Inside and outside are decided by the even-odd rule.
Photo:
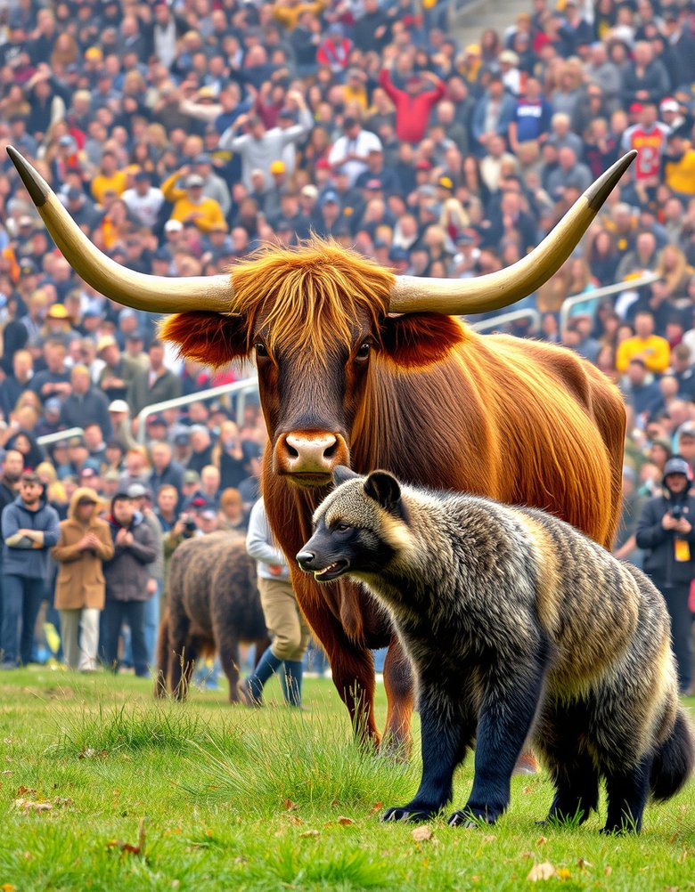
[[[246,317],[183,313],[166,321],[163,337],[205,365],[255,357],[272,473],[301,487],[325,486],[335,467],[349,467],[365,417],[382,419],[366,435],[389,436],[381,429],[388,425],[389,376],[445,359],[466,336],[447,316],[390,317],[366,301],[350,301],[340,315],[333,306],[332,317],[315,304],[305,310],[295,301],[291,312],[279,304],[266,298]]]

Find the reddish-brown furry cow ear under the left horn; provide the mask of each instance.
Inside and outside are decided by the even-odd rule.
[[[247,356],[247,326],[243,316],[220,313],[175,313],[160,323],[164,341],[178,344],[184,359],[221,368],[232,359]]]

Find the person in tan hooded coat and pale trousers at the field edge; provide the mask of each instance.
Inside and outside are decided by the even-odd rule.
[[[63,653],[71,669],[96,669],[99,613],[104,609],[102,564],[113,558],[108,524],[96,516],[99,497],[80,487],[72,493],[68,519],[61,523],[58,544],[52,550],[58,562],[55,607],[61,614]]]

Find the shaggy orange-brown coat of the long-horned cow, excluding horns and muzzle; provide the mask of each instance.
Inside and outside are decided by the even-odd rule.
[[[624,407],[589,363],[565,348],[477,335],[456,318],[389,317],[391,273],[336,244],[265,249],[231,278],[238,316],[186,313],[165,322],[163,336],[207,364],[247,355],[256,340],[281,359],[259,365],[271,440],[263,491],[273,533],[290,558],[309,537],[326,490],[299,490],[273,473],[272,446],[288,429],[282,424],[311,409],[317,394],[328,407],[327,424],[331,406],[352,419],[347,448],[356,471],[383,467],[411,483],[546,508],[610,546],[621,504]],[[375,349],[357,368],[352,358],[364,337]],[[292,387],[281,388],[280,376]],[[373,739],[369,648],[390,643],[387,731],[406,741],[413,691],[384,616],[348,583],[320,590],[298,572],[292,582],[340,695]]]

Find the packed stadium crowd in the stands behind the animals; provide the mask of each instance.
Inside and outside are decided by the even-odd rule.
[[[13,0],[0,149],[17,147],[90,239],[140,272],[217,274],[314,233],[452,278],[518,260],[636,149],[573,257],[520,304],[535,315],[500,325],[564,343],[622,387],[618,549],[639,560],[640,500],[674,451],[695,462],[695,4],[532,0],[472,45],[448,15],[444,0]],[[561,313],[568,295],[585,300]],[[79,489],[130,492],[160,544],[244,524],[257,406],[239,419],[196,401],[149,417],[144,437],[137,416],[245,370],[181,363],[155,323],[73,274],[3,151],[2,506],[30,469],[63,518]],[[71,427],[84,433],[38,442]],[[151,567],[158,598],[163,562]],[[155,615],[144,622],[151,648]]]

